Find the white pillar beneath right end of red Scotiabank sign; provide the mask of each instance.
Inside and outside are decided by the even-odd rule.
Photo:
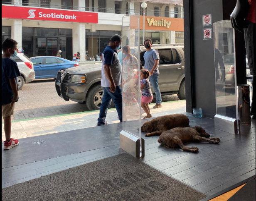
[[[77,23],[73,27],[73,53],[81,54],[81,62],[85,62],[85,23]]]

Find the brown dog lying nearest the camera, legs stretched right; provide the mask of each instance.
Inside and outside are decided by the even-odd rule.
[[[219,144],[219,138],[209,138],[209,134],[202,127],[196,126],[193,128],[175,128],[165,131],[159,137],[158,142],[170,148],[180,147],[183,151],[197,152],[197,147],[187,147],[183,143],[190,141],[203,141],[213,144]]]

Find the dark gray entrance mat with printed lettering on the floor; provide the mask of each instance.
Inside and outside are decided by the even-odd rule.
[[[128,154],[2,189],[5,201],[199,201],[205,197]]]

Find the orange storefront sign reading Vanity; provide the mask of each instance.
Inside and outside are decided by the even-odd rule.
[[[130,29],[137,29],[137,17],[131,17]],[[143,16],[140,16],[140,30],[143,30]],[[145,30],[184,31],[184,19],[145,16]]]

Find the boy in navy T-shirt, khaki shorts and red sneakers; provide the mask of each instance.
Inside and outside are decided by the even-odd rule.
[[[10,57],[17,56],[17,42],[7,38],[2,43],[2,117],[4,118],[5,142],[4,149],[8,150],[19,144],[11,138],[12,120],[15,102],[18,101],[17,77],[20,76],[17,63]]]

